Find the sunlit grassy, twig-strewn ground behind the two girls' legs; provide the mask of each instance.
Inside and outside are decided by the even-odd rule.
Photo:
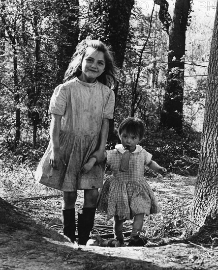
[[[28,164],[14,162],[10,168],[4,167],[0,175],[0,197],[6,199],[19,209],[28,212],[49,225],[59,226],[55,229],[62,233],[61,203],[62,192],[35,183],[34,170]],[[146,175],[155,192],[160,213],[145,217],[142,236],[150,240],[178,237],[186,222],[187,209],[192,199],[193,183],[188,178],[169,173],[166,177]],[[105,174],[105,179],[109,175]],[[188,183],[187,185],[185,183]],[[83,192],[78,192],[76,208],[82,208]],[[113,233],[113,219],[107,220],[104,213],[98,213],[95,224],[109,226]],[[131,230],[132,220],[124,223],[126,230]],[[99,233],[103,233],[101,225]]]

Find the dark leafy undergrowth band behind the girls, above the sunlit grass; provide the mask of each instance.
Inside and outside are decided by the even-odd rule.
[[[153,160],[168,171],[196,176],[199,165],[200,135],[194,130],[190,133],[185,129],[183,136],[179,136],[174,130],[163,130],[158,126],[148,127],[145,137],[139,144],[153,155]],[[32,149],[28,141],[21,141],[16,150],[8,148],[5,142],[2,143],[0,171],[13,170],[15,164],[28,165],[34,169],[48,146],[48,139],[48,135],[44,134],[38,140],[37,149]],[[120,140],[115,135],[113,140],[107,142],[106,149],[113,148],[117,143],[120,143]]]

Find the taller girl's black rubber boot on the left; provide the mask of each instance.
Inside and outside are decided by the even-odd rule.
[[[72,243],[75,242],[76,220],[75,208],[62,210],[63,234],[70,239]]]

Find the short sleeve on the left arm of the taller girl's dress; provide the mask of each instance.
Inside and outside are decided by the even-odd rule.
[[[65,87],[63,84],[60,84],[55,88],[54,93],[52,95],[49,106],[49,112],[58,115],[63,115],[66,110],[66,104],[67,98]]]

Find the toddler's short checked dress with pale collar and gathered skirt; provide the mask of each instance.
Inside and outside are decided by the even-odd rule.
[[[127,172],[121,172],[122,144],[106,153],[112,175],[105,181],[98,197],[98,211],[105,211],[108,219],[116,215],[119,219],[132,219],[136,214],[158,213],[155,194],[144,177],[145,165],[151,162],[152,155],[137,145],[130,155]]]

